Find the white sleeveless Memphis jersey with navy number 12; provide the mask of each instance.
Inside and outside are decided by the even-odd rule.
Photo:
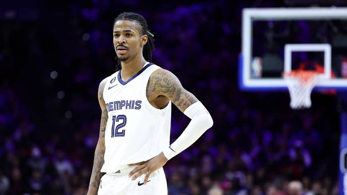
[[[101,172],[114,173],[127,164],[148,160],[169,146],[171,101],[157,109],[146,97],[149,77],[159,68],[147,62],[126,82],[121,80],[120,71],[107,78],[103,95],[109,119]]]

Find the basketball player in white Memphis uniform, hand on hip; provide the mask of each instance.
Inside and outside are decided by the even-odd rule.
[[[88,195],[167,195],[163,165],[212,118],[173,73],[150,63],[154,36],[141,15],[118,15],[113,36],[120,66],[99,85],[101,125]],[[171,102],[191,121],[170,146]]]

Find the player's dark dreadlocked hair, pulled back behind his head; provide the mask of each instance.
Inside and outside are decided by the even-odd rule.
[[[152,52],[155,49],[154,35],[150,33],[150,31],[148,30],[146,19],[142,15],[134,13],[134,12],[123,12],[116,17],[113,25],[115,26],[116,22],[119,20],[129,20],[129,21],[135,22],[139,26],[140,36],[142,35],[148,36],[148,41],[143,46],[143,49],[142,49],[142,55],[146,61],[152,62]],[[120,61],[118,59],[118,63],[116,65],[116,71],[120,69],[121,69],[121,66],[120,66]]]

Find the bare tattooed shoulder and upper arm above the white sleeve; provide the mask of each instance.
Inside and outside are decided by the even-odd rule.
[[[151,76],[147,83],[147,92],[166,96],[181,111],[198,101],[193,94],[182,87],[173,73],[165,69],[160,69]]]

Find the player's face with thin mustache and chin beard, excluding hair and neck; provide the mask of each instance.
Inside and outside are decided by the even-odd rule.
[[[139,26],[129,20],[118,20],[113,28],[113,44],[120,61],[141,54],[147,43],[147,35],[140,36]]]

